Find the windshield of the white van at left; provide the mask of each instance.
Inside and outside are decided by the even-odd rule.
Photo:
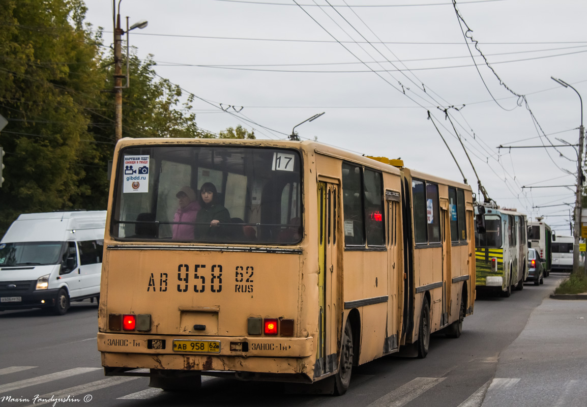
[[[0,244],[0,266],[58,264],[64,242],[35,241]]]

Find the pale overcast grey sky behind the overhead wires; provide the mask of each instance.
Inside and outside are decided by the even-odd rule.
[[[112,0],[85,1],[86,21],[112,43]],[[199,98],[205,130],[242,125],[258,139],[286,139],[325,112],[296,127],[302,139],[401,157],[412,169],[462,181],[436,125],[477,192],[454,125],[491,199],[532,219],[547,216],[557,234],[570,234],[572,206],[554,205],[573,205],[574,186],[522,187],[574,185],[565,170],[576,173],[575,150],[497,147],[578,143],[579,97],[551,76],[587,97],[587,1],[456,4],[123,0],[120,15],[123,29],[126,16],[131,25],[149,21],[131,31],[131,46]],[[468,29],[479,51],[465,39]]]

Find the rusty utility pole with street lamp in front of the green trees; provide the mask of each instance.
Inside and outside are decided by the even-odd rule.
[[[129,28],[129,18],[126,18],[126,75],[122,75],[122,39],[124,34],[120,28],[120,3],[116,13],[116,27],[114,27],[114,122],[116,123],[115,131],[116,141],[122,139],[122,89],[129,87],[129,31],[135,28],[143,29],[149,22],[140,21]],[[116,5],[116,0],[112,0],[112,6]],[[113,10],[114,11],[114,10]],[[122,86],[122,78],[126,78],[126,84]]]

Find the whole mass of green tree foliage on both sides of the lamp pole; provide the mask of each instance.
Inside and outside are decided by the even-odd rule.
[[[83,0],[0,1],[0,236],[21,213],[106,208],[113,55],[102,32],[84,25],[86,10]],[[130,51],[123,137],[215,137],[198,129],[194,96],[159,77],[152,56]],[[221,137],[254,133],[237,126]]]

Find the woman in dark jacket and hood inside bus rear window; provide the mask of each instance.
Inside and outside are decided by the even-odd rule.
[[[200,210],[195,217],[194,237],[199,240],[217,240],[226,235],[223,224],[230,224],[228,209],[218,203],[216,187],[211,182],[200,189]]]

